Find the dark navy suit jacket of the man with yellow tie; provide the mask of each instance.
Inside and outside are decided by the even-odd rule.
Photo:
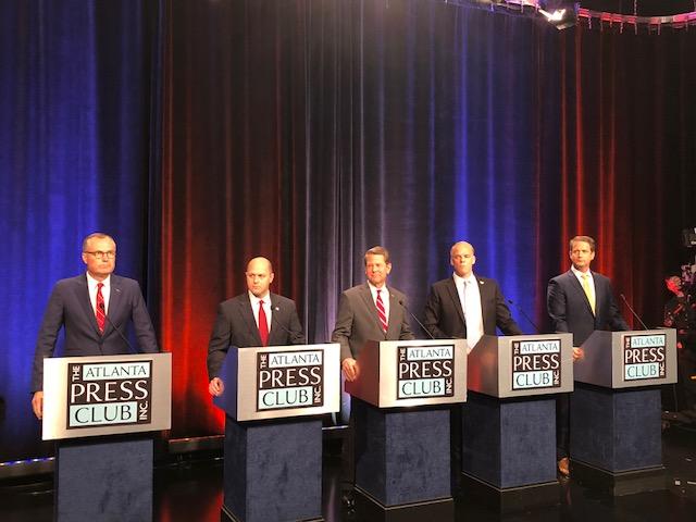
[[[595,315],[580,281],[571,270],[548,283],[546,307],[554,331],[573,334],[573,346],[581,346],[595,330],[630,330],[621,316],[611,290],[611,282],[597,272],[595,282]]]

